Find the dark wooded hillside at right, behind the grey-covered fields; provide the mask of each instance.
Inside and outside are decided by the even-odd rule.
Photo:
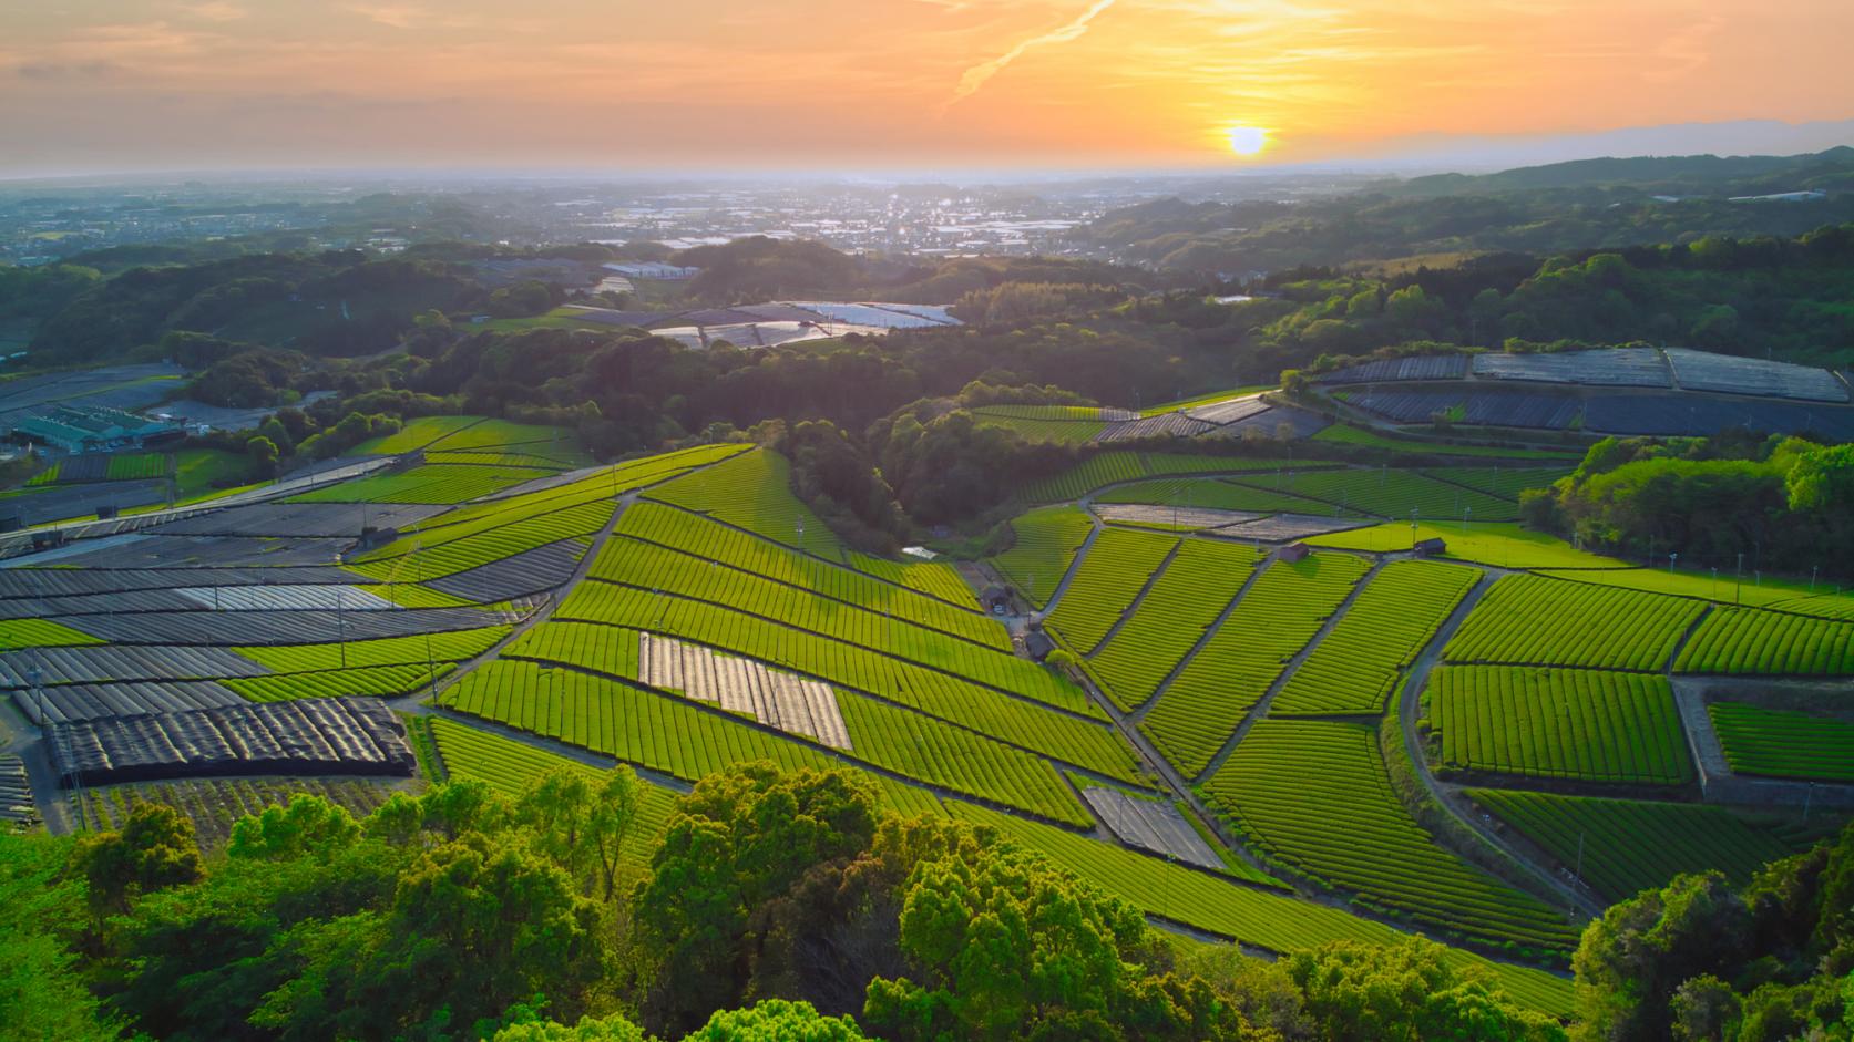
[[[1491,254],[1392,274],[1289,269],[1266,286],[1266,297],[1227,308],[1170,295],[1140,300],[1131,313],[1222,334],[1276,369],[1411,341],[1444,350],[1644,341],[1830,367],[1854,362],[1854,224],[1544,261]]]

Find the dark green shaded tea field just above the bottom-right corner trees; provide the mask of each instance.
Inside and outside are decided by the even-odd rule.
[[[1468,790],[1611,901],[1665,886],[1682,871],[1721,870],[1746,881],[1791,853],[1774,831],[1693,803],[1650,803],[1544,792]]]

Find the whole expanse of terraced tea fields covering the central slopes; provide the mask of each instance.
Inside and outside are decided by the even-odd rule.
[[[981,413],[1077,443],[1135,423]],[[1359,434],[1326,443],[1381,449]],[[89,742],[78,771],[180,771],[135,788],[200,820],[311,782],[187,775],[189,721],[334,734],[278,742],[263,762],[287,768],[265,769],[354,771],[313,784],[356,807],[417,788],[382,781],[413,762],[506,794],[630,764],[632,868],[684,782],[851,768],[888,808],[988,825],[1162,925],[1276,953],[1420,931],[1556,1014],[1570,986],[1548,968],[1604,901],[1797,849],[1780,816],[1704,803],[1687,686],[1847,675],[1847,599],[1733,608],[1509,523],[1563,460],[1250,449],[1094,451],[1023,489],[1040,506],[988,536],[1001,553],[955,567],[853,551],[766,447],[597,465],[567,430],[425,417],[362,445],[362,477],[9,562],[0,690]],[[949,554],[981,536],[921,534]],[[1416,560],[1418,536],[1452,560]],[[994,582],[1029,616],[986,614]],[[1745,699],[1704,695],[1732,773],[1854,782],[1845,718]],[[324,727],[339,714],[349,731]],[[154,729],[172,755],[141,756]],[[130,788],[104,792],[89,814],[117,820]],[[1148,849],[1161,832],[1190,857]]]

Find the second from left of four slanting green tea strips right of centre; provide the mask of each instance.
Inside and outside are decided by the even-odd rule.
[[[1153,695],[1255,571],[1253,547],[1185,540],[1138,610],[1088,662],[1124,710]]]

